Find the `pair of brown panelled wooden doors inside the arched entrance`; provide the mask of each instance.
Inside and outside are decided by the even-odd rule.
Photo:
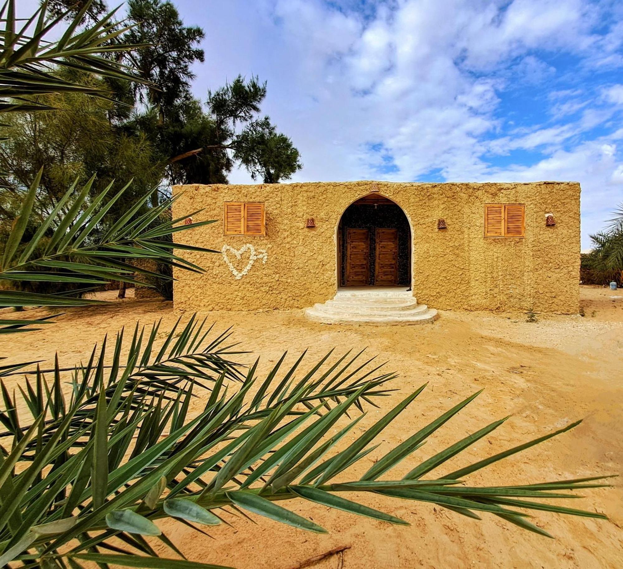
[[[346,229],[346,286],[373,284],[370,273],[370,230]],[[374,285],[398,284],[398,230],[374,230]]]

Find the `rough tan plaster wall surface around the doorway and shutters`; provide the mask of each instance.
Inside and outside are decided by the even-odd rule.
[[[420,303],[439,309],[577,313],[579,305],[580,187],[576,182],[393,183],[379,193],[402,207],[411,223],[413,288]],[[220,251],[245,243],[266,250],[236,280],[221,253],[178,251],[206,273],[174,270],[176,308],[304,308],[336,291],[336,228],[343,211],[370,193],[373,182],[275,185],[187,185],[174,218],[204,208],[193,221],[216,220],[176,233],[183,243]],[[266,236],[224,236],[224,202],[265,202]],[[524,203],[526,237],[485,238],[485,203]],[[546,227],[553,213],[556,226]],[[305,227],[313,217],[316,227]],[[444,218],[447,230],[437,230]],[[240,261],[231,256],[240,271]]]

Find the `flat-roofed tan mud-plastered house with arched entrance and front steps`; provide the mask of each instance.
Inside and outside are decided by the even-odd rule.
[[[186,185],[176,233],[206,269],[176,308],[307,308],[325,322],[432,321],[436,309],[578,312],[576,182]],[[416,300],[417,299],[417,300]],[[431,308],[428,308],[431,307]]]

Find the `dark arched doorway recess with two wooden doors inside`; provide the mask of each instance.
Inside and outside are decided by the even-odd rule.
[[[402,208],[371,193],[338,225],[339,286],[411,286],[411,228]]]

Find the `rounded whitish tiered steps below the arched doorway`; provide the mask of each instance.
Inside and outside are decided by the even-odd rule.
[[[338,289],[334,298],[306,308],[305,316],[323,324],[430,324],[438,318],[412,291],[371,286]]]

